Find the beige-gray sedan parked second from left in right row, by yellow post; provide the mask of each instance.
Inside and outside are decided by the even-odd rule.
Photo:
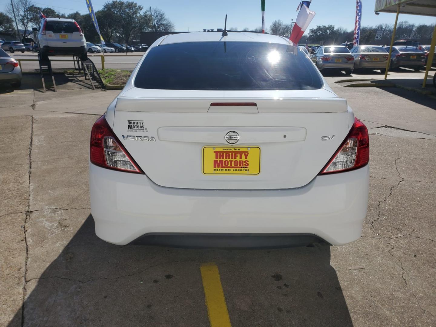
[[[354,57],[354,70],[361,68],[380,69],[385,73],[388,52],[378,45],[358,45],[351,49]]]

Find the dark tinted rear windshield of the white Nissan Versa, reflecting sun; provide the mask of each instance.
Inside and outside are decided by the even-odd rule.
[[[134,82],[141,89],[303,90],[322,81],[296,47],[266,42],[184,42],[149,50]]]

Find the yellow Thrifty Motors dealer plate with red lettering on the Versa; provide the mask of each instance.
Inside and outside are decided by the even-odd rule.
[[[260,173],[260,148],[204,146],[203,174],[257,175]]]

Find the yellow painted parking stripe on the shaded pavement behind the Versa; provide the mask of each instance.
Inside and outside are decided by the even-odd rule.
[[[218,266],[214,262],[203,263],[200,271],[211,327],[231,327]]]

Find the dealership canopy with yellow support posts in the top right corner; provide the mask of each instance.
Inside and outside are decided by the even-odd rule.
[[[397,30],[397,22],[399,14],[411,14],[422,16],[436,17],[436,0],[376,0],[375,1],[375,13],[395,13],[394,31],[392,33],[391,47],[389,48],[388,62],[386,64],[385,79],[388,76],[388,68],[392,56],[392,46],[394,44],[395,31]],[[426,74],[424,75],[424,82],[422,87],[426,87],[427,76],[432,66],[433,54],[436,45],[436,25],[433,31],[432,42],[430,46],[429,56],[427,60]]]

